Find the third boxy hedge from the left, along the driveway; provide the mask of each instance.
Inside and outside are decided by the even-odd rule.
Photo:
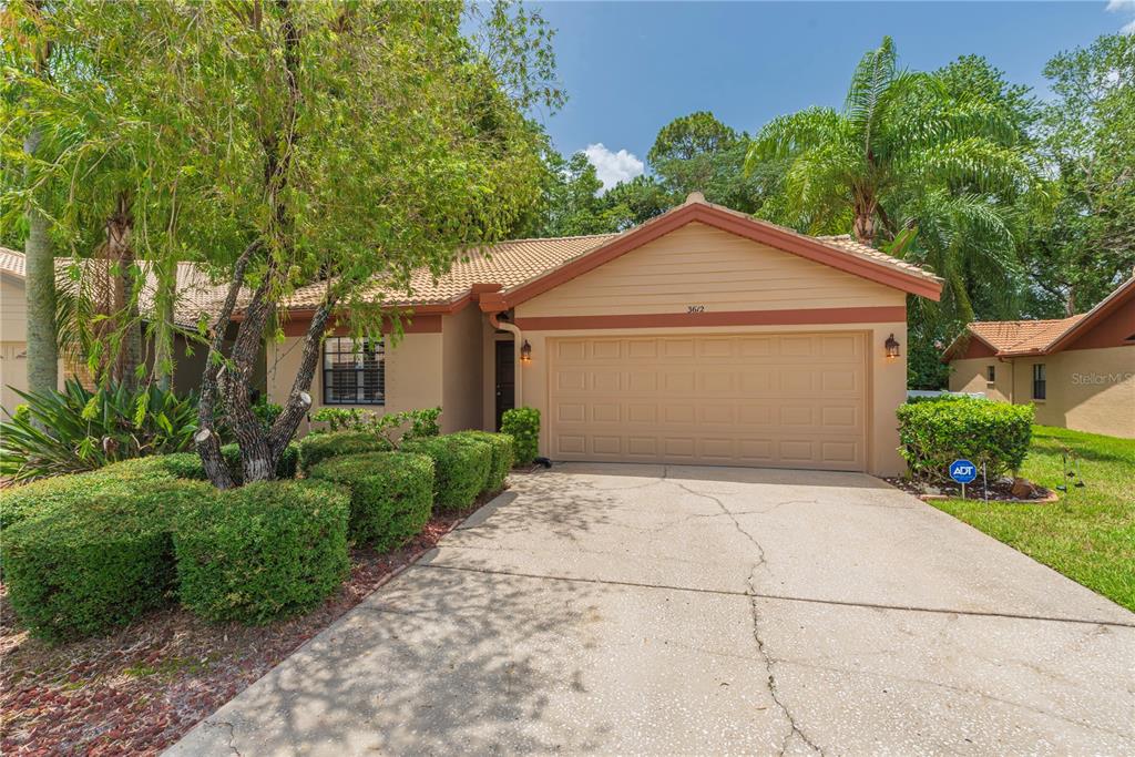
[[[417,536],[434,506],[434,461],[402,452],[333,457],[308,476],[351,490],[347,535],[355,544],[386,552]]]

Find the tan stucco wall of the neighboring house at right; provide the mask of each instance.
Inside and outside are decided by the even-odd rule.
[[[957,360],[950,389],[986,392],[984,371],[993,358]],[[1045,398],[1033,399],[1033,365],[1045,365]],[[1032,402],[1036,422],[1078,431],[1135,438],[1135,345],[1068,350],[1054,355],[1012,358],[998,363],[991,399]]]

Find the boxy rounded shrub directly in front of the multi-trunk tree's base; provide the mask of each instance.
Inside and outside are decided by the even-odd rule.
[[[183,511],[174,530],[182,604],[247,624],[312,609],[350,570],[350,493],[323,481],[258,481]]]

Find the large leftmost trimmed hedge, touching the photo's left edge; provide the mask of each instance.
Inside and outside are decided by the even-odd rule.
[[[170,530],[178,512],[210,502],[201,481],[72,476],[42,510],[5,531],[12,609],[33,636],[79,639],[125,625],[175,595]],[[82,479],[75,481],[74,479]]]

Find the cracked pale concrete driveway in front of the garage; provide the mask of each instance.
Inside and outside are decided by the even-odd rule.
[[[564,464],[170,754],[1133,754],[1135,615],[867,476]]]

